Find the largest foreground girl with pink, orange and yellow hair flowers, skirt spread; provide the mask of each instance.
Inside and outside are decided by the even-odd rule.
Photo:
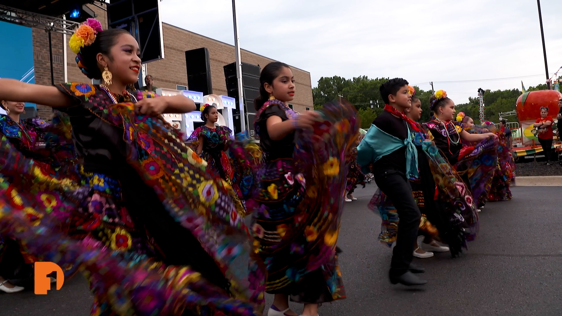
[[[74,204],[81,214],[72,216],[66,226],[71,227],[72,234],[87,233],[80,237],[86,240],[98,237],[94,232],[106,233],[108,236],[99,236],[104,246],[126,251],[126,256],[108,257],[106,252],[89,247],[83,251],[98,256],[98,263],[94,263],[96,256],[90,256],[94,261],[84,261],[77,252],[80,245],[67,241],[56,231],[49,233],[55,239],[47,238],[49,236],[39,239],[37,235],[45,230],[25,226],[17,214],[0,217],[3,231],[24,238],[32,249],[41,252],[39,255],[52,259],[49,261],[58,260],[62,264],[74,260],[83,264],[96,294],[92,314],[180,314],[188,308],[185,309],[187,315],[209,315],[214,313],[209,306],[228,310],[229,314],[250,314],[254,309],[259,310],[260,303],[252,306],[230,299],[228,304],[223,304],[227,294],[245,301],[263,299],[262,281],[253,279],[251,286],[255,290],[248,291],[244,270],[233,264],[235,259],[248,255],[250,245],[246,228],[229,197],[232,189],[224,186],[220,178],[209,176],[204,168],[206,162],[183,145],[169,124],[160,117],[153,117],[163,112],[195,110],[193,101],[183,96],[153,98],[153,94],[135,95],[125,91],[127,85],[137,81],[140,58],[138,43],[124,30],[103,31],[97,20],[88,19],[72,35],[70,47],[78,53],[76,61],[82,72],[89,78],[103,78],[105,84],[67,83],[48,87],[0,79],[0,99],[48,105],[70,115],[72,138],[83,157],[84,173],[92,188],[85,200]],[[139,98],[142,100],[137,102]],[[119,103],[123,101],[136,103]],[[2,143],[1,157],[11,161],[15,153],[6,146],[8,144]],[[3,165],[2,173],[10,172],[10,167]],[[14,169],[16,167],[20,165]],[[70,187],[67,180],[57,181],[44,175],[39,180],[57,183],[55,188]],[[46,194],[53,198],[60,196],[49,200],[48,213],[67,211],[74,203],[62,200],[64,197],[55,191],[39,192],[41,196]],[[11,196],[12,203],[16,200],[13,200],[15,195]],[[45,206],[31,204],[32,199],[21,193],[16,202],[20,206],[29,203],[28,212],[43,211],[38,214],[39,219],[47,217]],[[0,206],[5,210],[4,204]],[[7,220],[19,227],[24,225],[27,230],[22,232],[17,226],[6,226]],[[49,223],[49,219],[45,220]],[[41,220],[36,224],[41,228],[42,223]],[[57,256],[57,251],[65,251],[66,255]],[[99,270],[94,269],[96,264],[116,258],[124,258],[125,264],[110,265],[114,267],[111,273],[105,270],[99,274]],[[248,258],[245,259],[242,265],[248,262]],[[201,282],[199,274],[174,268],[187,265],[208,281],[193,288],[198,292],[196,296],[185,296],[181,291]],[[148,272],[136,274],[135,267],[139,267],[139,273],[144,269]],[[250,260],[250,270],[257,272],[256,267],[256,261]],[[156,272],[161,278],[160,284],[167,284],[168,288],[157,286]],[[142,274],[145,277],[140,277]],[[125,282],[126,278],[129,282]],[[140,279],[144,279],[144,286],[137,283]],[[126,290],[119,288],[131,284],[137,286]],[[132,292],[139,289],[144,289],[144,295]],[[146,305],[138,300],[139,295],[151,296],[153,302]],[[176,301],[178,298],[180,300]]]

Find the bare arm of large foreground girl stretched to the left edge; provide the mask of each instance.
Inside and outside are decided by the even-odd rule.
[[[52,85],[0,79],[0,100],[30,102],[50,107],[72,106],[72,99]]]

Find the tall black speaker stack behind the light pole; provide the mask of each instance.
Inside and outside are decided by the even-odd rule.
[[[260,66],[242,63],[242,90],[244,97],[244,113],[246,114],[246,129],[250,132],[250,136],[255,135],[253,121],[256,117],[256,109],[253,100],[260,95]],[[224,66],[224,78],[226,80],[226,91],[228,96],[235,98],[236,109],[233,110],[234,117],[234,133],[242,132],[240,122],[240,104],[238,100],[238,80],[236,78],[236,63]],[[256,137],[257,138],[257,137]]]

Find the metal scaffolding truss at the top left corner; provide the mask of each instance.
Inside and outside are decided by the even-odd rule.
[[[29,26],[30,28],[44,29],[47,32],[57,32],[67,35],[74,34],[74,29],[80,23],[64,20],[60,17],[42,15],[24,11],[0,4],[0,21]]]

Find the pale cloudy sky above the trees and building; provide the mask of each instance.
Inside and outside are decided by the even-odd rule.
[[[562,66],[562,1],[541,7],[552,75]],[[241,47],[310,71],[312,87],[322,76],[400,76],[463,103],[478,88],[546,79],[534,0],[238,0],[237,11]],[[163,0],[161,15],[234,43],[230,0]],[[459,83],[514,77],[525,78]]]

